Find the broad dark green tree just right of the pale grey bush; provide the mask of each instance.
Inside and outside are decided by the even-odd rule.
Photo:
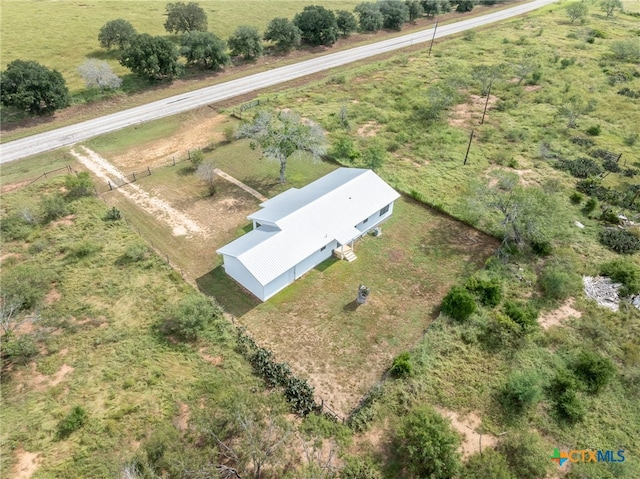
[[[143,33],[122,51],[120,63],[151,80],[171,79],[182,73],[178,57],[178,47],[175,44],[166,38]]]

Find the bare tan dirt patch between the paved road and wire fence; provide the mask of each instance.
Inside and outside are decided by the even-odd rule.
[[[172,158],[176,161],[188,156],[189,150],[205,148],[213,142],[221,141],[222,133],[216,127],[228,121],[210,108],[194,110],[173,135],[142,143],[126,152],[114,155],[112,163],[124,171],[139,171],[143,168],[167,165]]]

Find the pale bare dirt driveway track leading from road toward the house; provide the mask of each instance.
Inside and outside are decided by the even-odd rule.
[[[78,159],[89,171],[102,181],[121,184],[128,183],[125,175],[95,151],[81,146],[78,150],[71,150],[71,154]],[[176,210],[158,197],[149,195],[138,185],[129,183],[118,188],[120,194],[138,205],[153,217],[161,219],[171,226],[174,236],[190,236],[203,232],[203,228],[184,213]]]

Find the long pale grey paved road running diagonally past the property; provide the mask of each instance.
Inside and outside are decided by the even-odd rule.
[[[554,3],[555,1],[556,0],[534,0],[530,3],[517,5],[487,15],[443,25],[437,29],[436,38],[453,35],[464,30],[521,15]],[[80,141],[120,130],[127,126],[175,115],[410,45],[426,43],[431,41],[432,37],[433,29],[422,30],[382,42],[316,57],[311,60],[275,68],[262,73],[256,73],[237,80],[231,80],[164,100],[147,103],[146,105],[129,110],[15,140],[0,145],[0,163],[6,163],[45,151],[74,145]]]

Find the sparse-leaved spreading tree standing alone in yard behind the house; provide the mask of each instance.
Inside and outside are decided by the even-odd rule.
[[[240,125],[236,137],[251,139],[252,148],[259,146],[263,157],[280,164],[280,183],[285,183],[287,161],[295,153],[307,153],[314,160],[326,153],[322,128],[292,112],[259,111],[253,121]]]

